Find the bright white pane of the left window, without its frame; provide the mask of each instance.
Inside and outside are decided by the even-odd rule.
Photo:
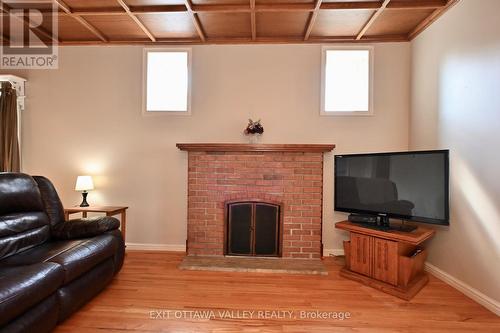
[[[189,52],[146,53],[146,111],[188,112]]]

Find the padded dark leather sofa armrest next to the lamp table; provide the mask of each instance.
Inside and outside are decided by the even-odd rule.
[[[61,222],[52,227],[57,239],[88,238],[120,227],[120,221],[111,216],[97,216]]]

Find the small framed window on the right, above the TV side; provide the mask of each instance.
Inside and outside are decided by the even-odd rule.
[[[371,48],[323,49],[323,115],[372,114]]]

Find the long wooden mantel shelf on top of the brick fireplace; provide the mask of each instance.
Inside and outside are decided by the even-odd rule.
[[[178,143],[177,148],[186,151],[205,152],[302,152],[326,153],[333,144],[245,144],[245,143]]]

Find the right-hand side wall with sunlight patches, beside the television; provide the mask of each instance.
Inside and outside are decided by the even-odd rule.
[[[451,150],[450,227],[429,262],[500,301],[498,13],[498,0],[462,0],[412,43],[410,145]]]

